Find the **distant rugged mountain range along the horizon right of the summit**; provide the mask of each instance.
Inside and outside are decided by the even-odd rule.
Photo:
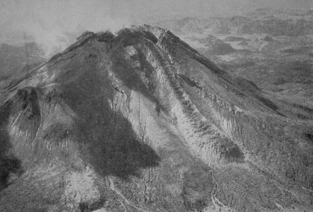
[[[303,36],[313,34],[313,18],[280,19],[279,17],[250,14],[230,18],[183,18],[155,22],[175,34],[203,33],[210,28],[215,33],[238,34],[264,33],[271,36]]]

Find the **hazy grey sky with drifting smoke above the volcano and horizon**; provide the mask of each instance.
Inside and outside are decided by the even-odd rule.
[[[312,9],[312,0],[0,0],[0,42],[64,48],[85,30],[116,31],[147,20],[232,16],[256,8]]]

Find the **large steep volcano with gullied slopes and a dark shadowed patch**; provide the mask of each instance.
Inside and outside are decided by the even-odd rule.
[[[313,110],[168,30],[86,32],[5,83],[1,211],[313,208]]]

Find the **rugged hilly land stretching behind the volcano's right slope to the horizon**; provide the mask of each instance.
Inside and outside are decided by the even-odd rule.
[[[275,98],[310,108],[312,20],[312,10],[260,8],[241,16],[169,19],[156,24],[173,30],[218,66],[254,82]],[[226,25],[230,34],[217,33],[220,25]]]

